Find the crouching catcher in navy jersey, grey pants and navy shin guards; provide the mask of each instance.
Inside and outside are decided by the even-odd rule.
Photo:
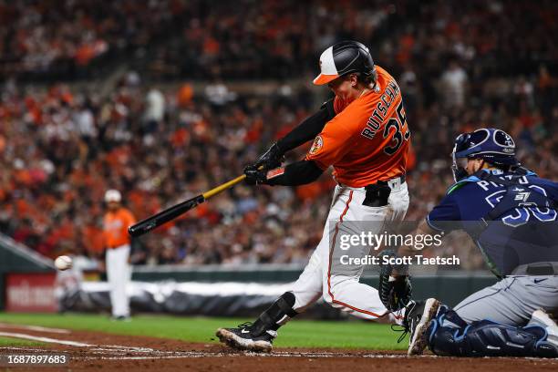
[[[461,134],[452,155],[456,183],[418,233],[465,230],[500,280],[453,309],[411,309],[408,354],[557,357],[558,183],[522,168],[500,129]]]

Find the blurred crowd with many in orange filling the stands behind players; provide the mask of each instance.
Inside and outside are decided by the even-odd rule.
[[[0,19],[14,15],[13,8],[24,3],[1,4]],[[547,7],[532,2],[429,2],[415,9],[405,2],[319,2],[302,8],[288,1],[246,1],[241,3],[249,10],[243,15],[223,2],[211,12],[196,1],[103,3],[122,9],[150,6],[154,19],[179,22],[178,36],[162,41],[151,39],[150,27],[141,31],[143,36],[126,36],[135,16],[145,16],[140,11],[84,11],[79,13],[83,19],[74,19],[69,17],[72,7],[88,2],[67,2],[57,11],[38,6],[45,3],[36,3],[37,15],[17,14],[17,22],[0,27],[0,73],[17,77],[38,71],[26,60],[45,62],[42,49],[25,47],[11,55],[12,69],[4,68],[5,51],[13,49],[19,35],[42,46],[57,39],[74,43],[67,52],[89,37],[89,32],[78,32],[82,23],[95,28],[90,40],[100,38],[109,49],[134,43],[129,50],[136,50],[145,43],[154,46],[157,56],[141,75],[130,72],[122,78],[109,95],[87,85],[43,89],[16,79],[5,82],[0,98],[0,231],[47,256],[100,254],[102,195],[109,188],[122,191],[129,209],[143,218],[236,177],[318,107],[324,92],[311,88],[308,77],[316,72],[320,50],[342,38],[367,43],[377,64],[392,72],[401,87],[412,132],[409,221],[423,218],[452,182],[449,152],[462,131],[505,129],[517,140],[526,167],[542,177],[556,177],[558,58],[552,35],[557,6],[552,2]],[[64,9],[66,32],[75,38],[67,37],[65,26],[57,27],[58,16],[51,16]],[[117,16],[113,14],[129,22],[110,19]],[[113,27],[99,30],[101,20]],[[63,66],[56,57],[48,60],[45,73]],[[279,88],[262,96],[231,92],[226,84],[194,92],[188,83],[174,88],[155,84],[153,78],[306,81],[305,88]],[[305,150],[294,151],[289,160],[301,158]],[[140,238],[133,260],[303,263],[321,237],[334,184],[324,175],[297,188],[239,185]],[[458,254],[452,249],[446,253]],[[480,267],[481,259],[471,257],[462,265]]]

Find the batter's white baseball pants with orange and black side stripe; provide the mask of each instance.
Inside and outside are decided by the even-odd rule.
[[[340,249],[340,245],[339,242],[334,242],[333,236],[336,236],[336,240],[338,240],[338,237],[344,233],[343,230],[351,227],[350,224],[346,226],[340,222],[396,222],[403,220],[408,209],[407,183],[389,182],[389,185],[391,193],[385,207],[362,205],[366,197],[364,188],[336,186],[322,240],[315,248],[304,272],[292,286],[295,297],[294,310],[297,313],[305,311],[321,296],[329,305],[359,318],[374,320],[387,315],[388,311],[382,304],[377,289],[358,283],[364,266],[356,267],[356,270],[352,271],[340,270],[341,267],[338,263],[332,264],[332,258],[341,255],[341,252],[334,252],[334,250]],[[379,229],[382,224],[373,223],[368,226],[377,226],[378,231],[371,233],[380,233]],[[353,227],[355,226],[353,225]],[[331,240],[330,234],[332,234]],[[400,314],[393,315],[393,317],[390,315],[390,320],[399,323]]]

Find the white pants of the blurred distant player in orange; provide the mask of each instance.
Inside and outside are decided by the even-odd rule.
[[[107,279],[110,285],[112,316],[129,316],[129,298],[126,287],[131,279],[128,263],[129,244],[107,249]]]

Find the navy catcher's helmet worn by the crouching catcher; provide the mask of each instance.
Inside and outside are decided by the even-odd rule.
[[[455,139],[451,156],[451,170],[455,181],[467,176],[465,164],[460,164],[460,160],[482,159],[497,167],[506,168],[521,165],[515,158],[515,142],[501,129],[483,128],[460,134]]]

